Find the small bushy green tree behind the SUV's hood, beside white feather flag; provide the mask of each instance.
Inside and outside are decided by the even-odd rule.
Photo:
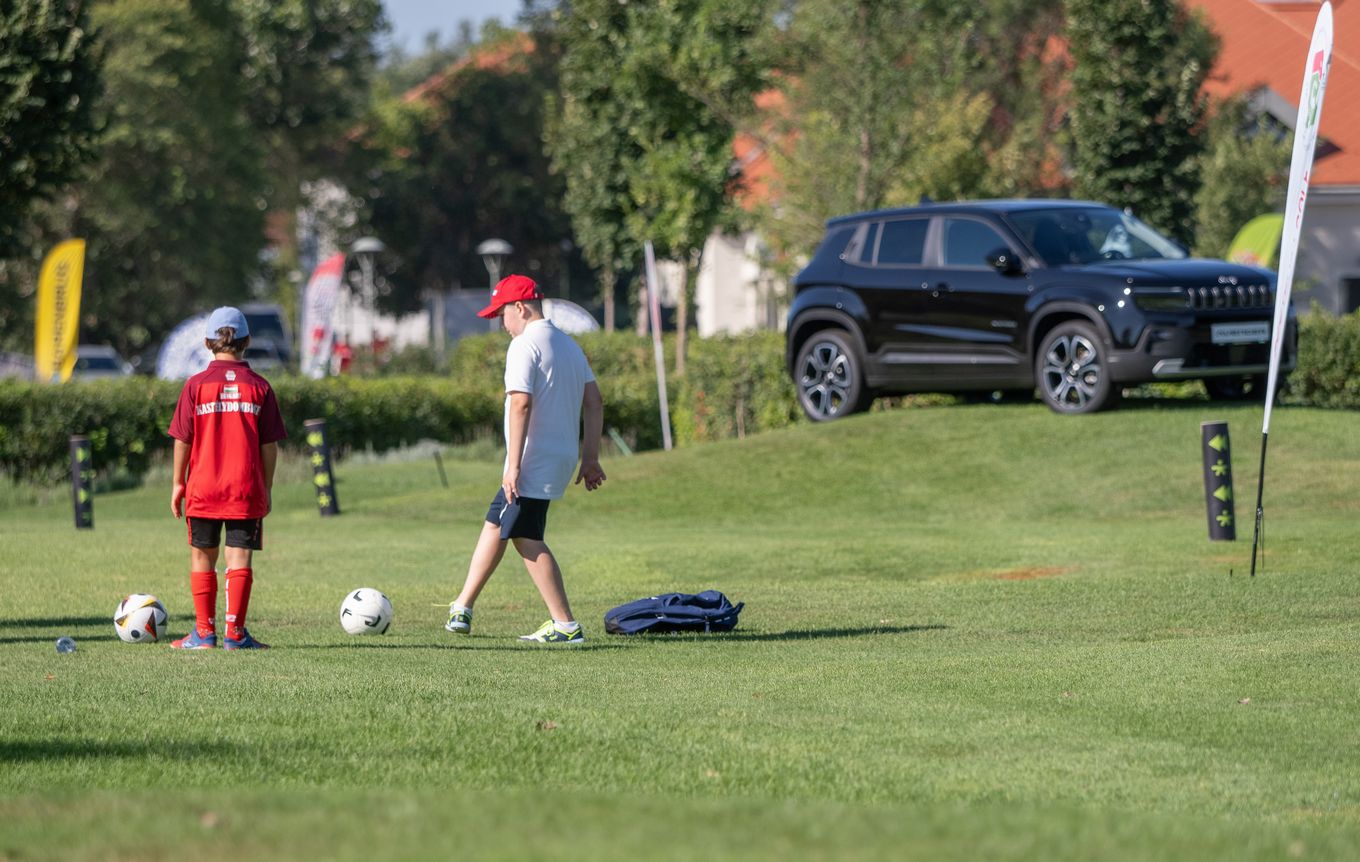
[[[1240,98],[1217,106],[1194,200],[1197,254],[1225,256],[1243,224],[1284,208],[1292,150],[1293,135]]]

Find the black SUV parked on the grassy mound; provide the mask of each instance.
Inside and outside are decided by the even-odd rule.
[[[827,222],[794,279],[787,362],[815,420],[879,394],[1035,387],[1059,413],[1122,387],[1265,389],[1274,273],[1186,250],[1103,204],[971,201]],[[1281,370],[1293,368],[1289,310]]]

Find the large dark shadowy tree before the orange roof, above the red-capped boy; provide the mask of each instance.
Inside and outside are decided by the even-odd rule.
[[[544,154],[544,105],[556,57],[522,33],[490,29],[483,44],[418,92],[377,99],[344,170],[363,223],[388,243],[393,309],[430,291],[484,286],[476,256],[490,237],[513,265],[551,284],[568,265],[562,181]]]

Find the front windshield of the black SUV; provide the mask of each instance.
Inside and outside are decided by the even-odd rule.
[[[1108,207],[1054,207],[1009,213],[1050,266],[1123,260],[1180,260],[1185,250],[1132,215]]]

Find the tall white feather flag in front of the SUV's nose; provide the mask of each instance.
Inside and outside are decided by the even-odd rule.
[[[1270,328],[1270,374],[1266,378],[1266,415],[1261,432],[1270,432],[1270,407],[1280,379],[1280,355],[1284,352],[1284,329],[1293,290],[1293,265],[1299,257],[1299,232],[1303,208],[1308,203],[1308,178],[1312,154],[1318,148],[1318,121],[1322,118],[1322,95],[1327,90],[1331,68],[1331,4],[1323,3],[1312,27],[1312,44],[1303,67],[1303,90],[1299,94],[1299,120],[1293,125],[1293,159],[1289,162],[1289,192],[1284,203],[1284,235],[1280,239],[1280,275],[1276,279],[1276,313]]]

